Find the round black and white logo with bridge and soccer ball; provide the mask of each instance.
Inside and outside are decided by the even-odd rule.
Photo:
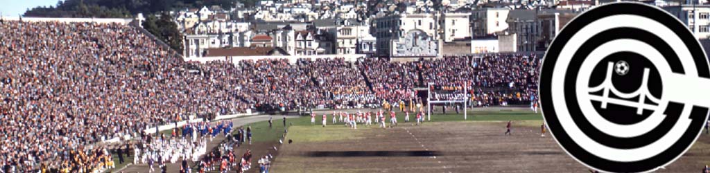
[[[677,18],[616,3],[564,27],[542,60],[539,91],[545,122],[569,155],[603,172],[650,172],[697,139],[710,70]]]

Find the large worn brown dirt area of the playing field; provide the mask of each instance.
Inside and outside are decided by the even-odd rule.
[[[366,138],[284,144],[273,172],[589,172],[549,133],[541,137],[539,125],[516,126],[513,135],[505,131],[505,122],[361,128],[351,135]],[[710,160],[707,143],[710,138],[701,135],[686,155],[659,172],[699,171]]]

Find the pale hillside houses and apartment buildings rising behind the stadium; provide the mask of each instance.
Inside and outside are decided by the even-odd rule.
[[[545,51],[574,16],[611,2],[264,0],[250,8],[237,3],[170,15],[182,33],[185,57],[248,56],[209,53],[234,48],[278,48],[293,56],[442,57]],[[677,16],[697,38],[710,38],[705,1],[639,2]]]

